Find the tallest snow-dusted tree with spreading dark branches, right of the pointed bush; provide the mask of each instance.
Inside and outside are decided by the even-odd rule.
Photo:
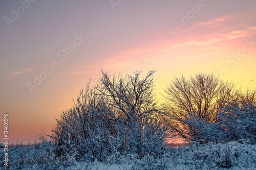
[[[140,71],[124,77],[114,75],[111,79],[108,72],[102,71],[98,88],[106,102],[106,113],[118,127],[116,133],[121,134],[122,150],[140,157],[145,153],[160,153],[166,137],[165,128],[157,119],[163,112],[154,93],[155,72],[148,71],[143,79],[139,78]]]

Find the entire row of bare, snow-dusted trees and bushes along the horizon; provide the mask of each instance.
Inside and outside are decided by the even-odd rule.
[[[170,81],[159,104],[154,89],[156,70],[141,78],[102,72],[89,81],[74,106],[56,118],[51,135],[56,155],[106,161],[134,154],[164,155],[170,138],[187,142],[248,140],[256,142],[256,91],[242,92],[213,74]]]

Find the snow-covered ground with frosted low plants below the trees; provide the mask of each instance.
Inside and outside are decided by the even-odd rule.
[[[0,156],[4,160],[4,149]],[[136,155],[110,157],[102,162],[77,162],[72,155],[55,157],[53,145],[16,145],[8,148],[7,169],[256,169],[256,145],[228,142],[219,144],[197,144],[187,148],[170,148],[161,158]],[[1,161],[0,169],[4,167]]]

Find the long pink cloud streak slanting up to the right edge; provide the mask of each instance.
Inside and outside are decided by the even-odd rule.
[[[194,24],[185,26],[180,33],[176,29],[158,30],[152,35],[161,35],[154,41],[141,39],[141,45],[130,50],[117,49],[111,60],[106,60],[104,68],[123,68],[135,63],[143,54],[165,57],[186,57],[190,53],[214,56],[229,52],[244,43],[244,39],[255,35],[256,27],[252,20],[254,11],[223,15],[216,18],[207,16]]]

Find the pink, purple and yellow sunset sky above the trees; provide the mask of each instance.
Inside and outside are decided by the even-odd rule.
[[[0,2],[0,143],[51,133],[89,79],[154,75],[158,99],[174,77],[213,72],[256,86],[256,1]]]

